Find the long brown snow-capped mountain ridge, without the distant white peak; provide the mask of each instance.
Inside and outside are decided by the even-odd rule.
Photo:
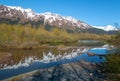
[[[24,9],[21,7],[0,5],[0,22],[7,23],[21,23],[32,25],[50,25],[56,27],[63,27],[72,30],[87,29],[91,26],[70,16],[61,16],[59,14],[45,12],[35,13],[31,9]]]

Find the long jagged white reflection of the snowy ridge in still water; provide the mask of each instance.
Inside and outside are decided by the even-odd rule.
[[[77,57],[78,55],[87,52],[89,49],[84,48],[84,49],[73,49],[71,50],[70,53],[65,52],[63,55],[62,54],[53,54],[52,52],[48,52],[45,54],[43,52],[43,57],[42,59],[38,59],[36,56],[28,56],[25,57],[24,59],[22,58],[17,64],[13,65],[8,65],[8,64],[1,64],[3,66],[2,69],[17,69],[19,67],[28,67],[34,62],[42,62],[42,63],[50,63],[50,62],[57,62],[63,59],[72,59],[74,57]]]

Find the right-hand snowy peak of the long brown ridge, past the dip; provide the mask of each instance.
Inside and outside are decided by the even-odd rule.
[[[80,20],[75,19],[71,16],[61,16],[59,14],[54,14],[51,12],[41,13],[40,15],[44,16],[45,23],[49,23],[49,24],[56,23],[56,25],[59,27],[65,23],[69,26],[74,26],[74,27],[83,28],[83,29],[90,27],[90,25],[88,25],[84,22],[81,22]]]

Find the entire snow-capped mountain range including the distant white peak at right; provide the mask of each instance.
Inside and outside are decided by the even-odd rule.
[[[116,32],[116,29],[110,28],[110,26],[108,26],[108,28],[90,26],[71,16],[61,16],[51,12],[36,13],[31,9],[4,5],[0,5],[0,23],[31,24],[33,27],[44,25],[47,29],[59,27],[69,32],[89,32],[97,34],[113,34]]]

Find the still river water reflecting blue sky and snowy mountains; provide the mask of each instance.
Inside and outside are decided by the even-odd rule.
[[[108,46],[99,47],[43,47],[32,50],[0,49],[1,53],[10,53],[11,56],[0,62],[0,80],[37,69],[49,68],[65,63],[85,60],[87,62],[104,62],[100,54],[108,54]],[[90,56],[87,53],[95,53]]]

